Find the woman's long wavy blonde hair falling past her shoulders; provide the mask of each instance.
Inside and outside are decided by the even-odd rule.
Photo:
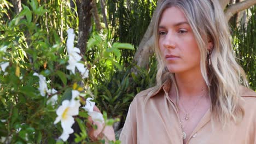
[[[218,1],[214,0],[163,0],[158,7],[156,19],[154,20],[155,56],[158,61],[157,84],[149,89],[148,96],[153,95],[162,84],[169,80],[178,88],[174,74],[166,68],[161,61],[161,52],[158,43],[158,26],[161,15],[165,9],[176,7],[184,12],[193,29],[197,45],[201,55],[201,73],[206,82],[211,98],[212,119],[226,124],[232,118],[240,122],[244,110],[238,102],[240,99],[239,87],[248,87],[245,71],[238,65],[231,45],[231,35],[228,22],[225,19],[223,9]],[[172,17],[170,17],[172,19]],[[212,41],[211,65],[207,58],[208,41]],[[146,101],[147,99],[146,98]]]

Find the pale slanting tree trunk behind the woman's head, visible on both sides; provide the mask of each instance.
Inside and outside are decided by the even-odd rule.
[[[158,0],[158,4],[161,1],[162,0]],[[230,0],[219,0],[221,7],[225,9],[225,16],[227,20],[229,20],[232,15],[238,13],[239,11],[248,9],[252,5],[256,4],[256,0],[246,0],[235,4],[231,4],[228,7],[226,7],[229,4],[229,2]],[[152,19],[154,19],[155,14],[156,10],[154,11]],[[142,38],[141,43],[139,44],[138,49],[133,58],[133,62],[135,62],[141,68],[147,68],[149,64],[149,57],[153,55],[154,39],[152,38],[152,35],[153,21],[149,23],[148,29],[144,34],[144,37]]]

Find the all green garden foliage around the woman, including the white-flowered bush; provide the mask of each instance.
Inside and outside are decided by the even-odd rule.
[[[95,31],[92,25],[83,55],[75,49],[77,10],[68,1],[30,0],[16,15],[10,2],[0,0],[1,142],[90,143],[85,123],[91,111],[83,106],[91,102],[104,111],[106,125],[120,119],[116,130],[123,126],[135,95],[155,85],[157,69],[154,57],[148,69],[132,64],[156,1],[129,2],[107,1],[109,28]],[[248,24],[234,28],[232,37],[255,90],[256,9],[251,11]],[[73,140],[66,140],[69,134]]]

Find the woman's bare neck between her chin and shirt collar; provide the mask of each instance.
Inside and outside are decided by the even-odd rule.
[[[181,98],[194,99],[207,91],[207,86],[202,77],[201,71],[189,74],[175,74],[175,79],[179,91],[179,97]]]

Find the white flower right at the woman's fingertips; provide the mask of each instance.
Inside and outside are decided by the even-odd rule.
[[[94,111],[94,105],[95,102],[91,101],[93,100],[92,98],[87,98],[86,99],[86,105],[83,106],[82,108],[85,109],[86,111],[88,111],[88,115],[91,116],[92,121],[96,122],[104,122],[104,118],[103,115],[100,112],[96,112]]]

